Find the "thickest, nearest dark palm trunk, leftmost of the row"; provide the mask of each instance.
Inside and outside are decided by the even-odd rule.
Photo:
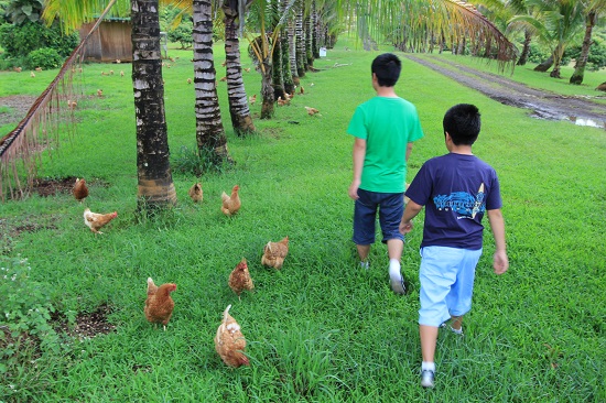
[[[150,211],[176,204],[164,116],[158,0],[131,0],[131,23],[138,209]]]

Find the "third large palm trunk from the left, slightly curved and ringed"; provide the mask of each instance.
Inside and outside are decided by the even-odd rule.
[[[242,78],[242,68],[240,65],[240,42],[238,40],[238,10],[229,7],[229,1],[224,1],[223,11],[225,14],[225,56],[227,66],[227,96],[229,98],[229,115],[231,126],[238,135],[252,133],[256,131],[248,99],[246,96]]]

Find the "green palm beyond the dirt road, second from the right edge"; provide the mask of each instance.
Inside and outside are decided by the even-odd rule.
[[[510,20],[510,25],[531,30],[539,41],[550,47],[553,59],[550,76],[561,78],[562,56],[583,26],[584,8],[577,0],[527,0],[526,3],[535,8],[537,14],[516,15]]]

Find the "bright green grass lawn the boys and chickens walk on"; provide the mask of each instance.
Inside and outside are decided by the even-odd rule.
[[[52,157],[43,153],[39,177],[85,177],[90,196],[84,204],[68,193],[0,204],[2,268],[20,274],[0,277],[0,326],[8,325],[6,312],[19,306],[25,313],[52,307],[73,319],[107,304],[115,331],[82,340],[42,337],[46,342],[40,347],[23,341],[19,359],[4,351],[0,401],[606,400],[604,130],[530,118],[403,62],[397,92],[416,105],[425,132],[415,143],[408,181],[425,160],[446,152],[441,123],[446,109],[477,105],[483,130],[474,152],[499,174],[511,264],[502,276],[493,273],[494,244],[486,231],[465,336],[440,335],[436,388],[423,390],[416,324],[422,220],[404,248],[402,269],[412,286],[403,297],[390,291],[385,246],[375,244],[365,271],[350,241],[353,138],[345,131],[355,107],[374,96],[369,66],[378,53],[346,45],[354,48],[340,40],[315,61],[321,72],[302,78],[305,95],[277,108],[274,119],[259,120],[261,102],[252,106],[255,135],[232,133],[226,84],[219,83],[237,164],[199,178],[201,205],[187,197],[198,178],[173,173],[177,206],[147,220],[134,215],[130,65],[84,66],[75,86],[85,96],[76,111],[79,124],[72,135],[62,134],[58,149],[53,143]],[[183,148],[195,146],[194,87],[187,84],[193,67],[192,52],[169,53],[178,56],[163,70],[175,162]],[[215,59],[220,78],[221,46]],[[242,64],[252,66],[247,58]],[[115,74],[101,75],[109,69]],[[37,95],[55,74],[41,72],[34,79],[0,73],[1,95]],[[513,78],[561,94],[578,88],[527,69],[516,69]],[[606,81],[606,73],[588,73],[587,81]],[[258,94],[260,75],[245,73],[245,84],[248,95]],[[307,116],[305,106],[321,115]],[[219,210],[220,193],[235,184],[242,208],[227,218]],[[95,236],[83,222],[85,206],[117,210],[118,218]],[[283,269],[261,266],[263,244],[284,236],[290,254]],[[242,257],[256,288],[239,301],[227,277]],[[148,276],[177,284],[165,333],[143,316]],[[250,367],[227,368],[215,352],[213,338],[228,304],[247,338]],[[25,316],[21,323],[29,328],[44,328],[43,316]]]

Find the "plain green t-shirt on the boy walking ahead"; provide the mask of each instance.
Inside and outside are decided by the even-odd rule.
[[[347,133],[366,140],[360,188],[404,192],[408,143],[423,137],[414,105],[400,97],[375,97],[358,106]]]

